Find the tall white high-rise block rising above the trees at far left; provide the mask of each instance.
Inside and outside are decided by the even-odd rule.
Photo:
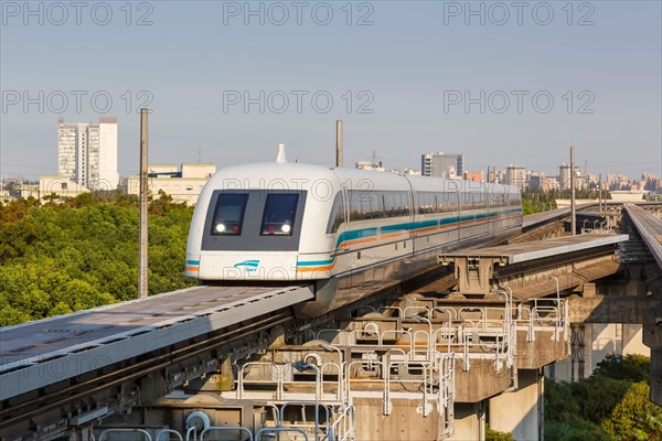
[[[115,190],[117,118],[102,117],[96,125],[57,122],[57,174],[90,190]]]

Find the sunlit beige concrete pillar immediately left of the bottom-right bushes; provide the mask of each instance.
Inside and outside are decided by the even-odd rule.
[[[540,440],[543,377],[537,369],[520,369],[519,389],[490,399],[490,428],[512,433],[517,441]]]

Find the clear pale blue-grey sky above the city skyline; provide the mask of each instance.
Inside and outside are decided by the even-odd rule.
[[[662,174],[660,1],[1,1],[0,172],[56,173],[57,118],[119,120],[119,172],[288,159]],[[261,22],[261,23],[260,23]],[[66,98],[63,99],[63,97]],[[93,99],[94,97],[94,99]],[[111,100],[111,104],[108,101]],[[331,103],[332,100],[332,103]],[[78,101],[78,103],[77,103]],[[553,103],[552,103],[553,101]]]

